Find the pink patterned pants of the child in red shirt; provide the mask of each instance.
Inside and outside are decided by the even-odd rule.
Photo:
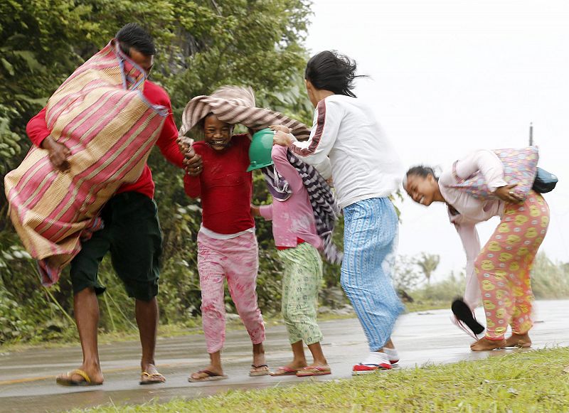
[[[230,240],[215,240],[201,232],[198,234],[201,316],[208,353],[221,350],[225,341],[225,279],[252,343],[265,341],[265,323],[255,291],[258,269],[255,234],[248,232]]]

